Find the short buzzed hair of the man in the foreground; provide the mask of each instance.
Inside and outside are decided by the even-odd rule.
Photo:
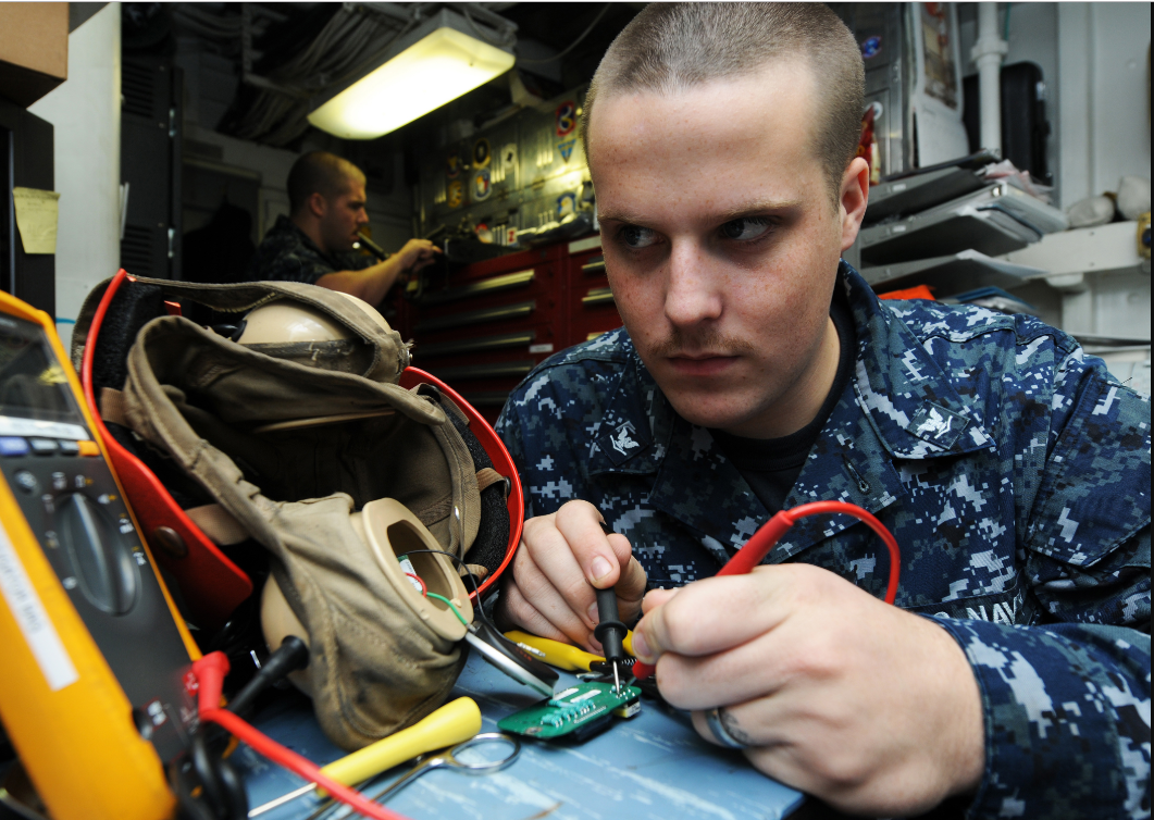
[[[815,148],[837,200],[861,138],[865,73],[853,33],[823,3],[650,3],[617,35],[593,75],[582,112],[585,156],[590,116],[601,97],[675,93],[799,57],[819,95]]]

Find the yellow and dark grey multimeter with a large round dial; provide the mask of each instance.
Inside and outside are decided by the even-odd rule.
[[[0,721],[53,820],[160,820],[200,652],[95,429],[52,318],[0,293]]]

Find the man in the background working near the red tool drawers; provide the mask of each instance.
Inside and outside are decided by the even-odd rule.
[[[288,172],[291,215],[264,235],[247,279],[304,281],[380,304],[397,277],[430,264],[439,251],[411,239],[384,262],[353,253],[368,225],[365,196],[365,174],[355,165],[324,151],[304,155]]]

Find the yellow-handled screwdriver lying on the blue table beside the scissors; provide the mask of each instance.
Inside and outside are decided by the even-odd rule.
[[[353,785],[391,769],[397,763],[415,758],[418,754],[464,743],[480,730],[481,710],[477,702],[472,698],[457,698],[419,723],[394,732],[360,751],[346,754],[339,760],[323,766],[321,772],[344,785]],[[248,817],[260,817],[277,806],[283,806],[302,795],[307,795],[314,789],[316,789],[316,783],[302,785],[287,795],[282,795],[275,800],[257,806],[248,813]],[[325,796],[323,790],[317,790],[317,793],[321,797]]]

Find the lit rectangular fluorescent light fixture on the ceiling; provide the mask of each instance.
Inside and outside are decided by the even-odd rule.
[[[466,25],[460,15],[441,10],[315,107],[308,121],[345,140],[375,140],[512,68],[512,54],[466,33]]]

